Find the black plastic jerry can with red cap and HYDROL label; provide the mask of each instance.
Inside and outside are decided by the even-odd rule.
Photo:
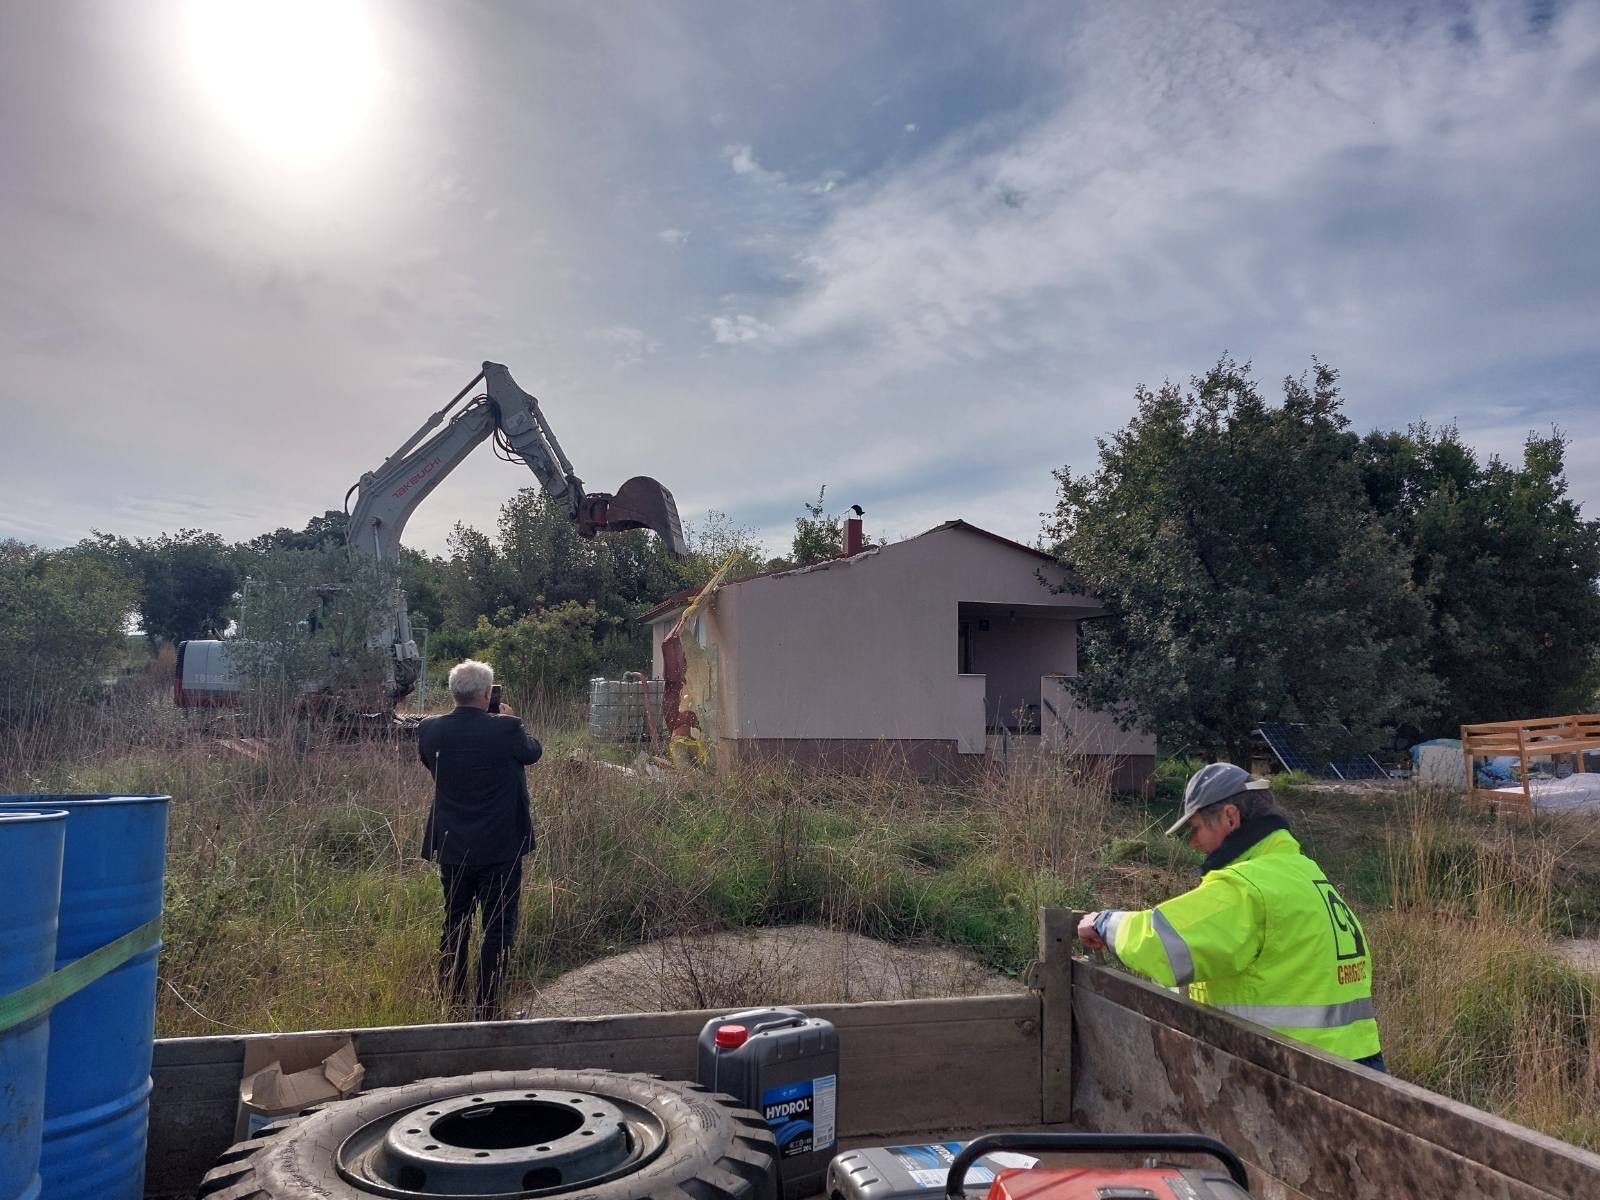
[[[838,1146],[838,1032],[830,1021],[798,1008],[714,1018],[699,1035],[698,1080],[766,1120],[782,1200],[822,1190]]]

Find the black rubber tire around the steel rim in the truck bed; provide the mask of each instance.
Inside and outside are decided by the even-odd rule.
[[[698,1083],[610,1070],[483,1070],[378,1088],[264,1126],[229,1149],[200,1184],[203,1200],[373,1200],[344,1179],[336,1155],[370,1122],[482,1091],[574,1091],[648,1109],[666,1133],[638,1170],[578,1184],[582,1200],[776,1200],[778,1146],[766,1123]]]

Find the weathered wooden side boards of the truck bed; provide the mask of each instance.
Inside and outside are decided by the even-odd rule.
[[[1046,909],[1026,995],[811,1005],[838,1027],[842,1142],[989,1130],[1206,1133],[1270,1200],[1600,1197],[1600,1155],[1070,958]],[[510,1067],[694,1077],[710,1011],[350,1032],[366,1086]],[[192,1195],[229,1144],[246,1037],[157,1042],[147,1197]]]

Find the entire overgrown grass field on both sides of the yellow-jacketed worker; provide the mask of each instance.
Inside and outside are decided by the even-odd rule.
[[[429,779],[414,746],[288,725],[229,749],[224,726],[174,712],[165,686],[152,674],[0,741],[6,790],[173,797],[160,1032],[448,1016],[434,995],[438,882],[416,859]],[[1194,883],[1197,859],[1160,834],[1165,811],[1112,797],[1072,762],[962,787],[754,768],[651,781],[571,760],[605,752],[570,707],[518,709],[554,731],[528,776],[539,848],[514,997],[656,944],[662,989],[774,998],[789,990],[782,962],[741,965],[707,934],[797,923],[962,947],[1014,976],[1040,904],[1147,906]],[[1600,918],[1595,822],[1494,822],[1430,794],[1291,792],[1286,806],[1366,922],[1392,1069],[1600,1144],[1597,986],[1552,949]],[[808,1002],[861,998],[853,970],[824,974],[835,984]]]

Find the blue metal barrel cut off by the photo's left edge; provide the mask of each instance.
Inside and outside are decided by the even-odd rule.
[[[0,995],[56,970],[61,846],[67,814],[0,813]],[[0,1200],[38,1197],[50,1013],[0,1032]]]

